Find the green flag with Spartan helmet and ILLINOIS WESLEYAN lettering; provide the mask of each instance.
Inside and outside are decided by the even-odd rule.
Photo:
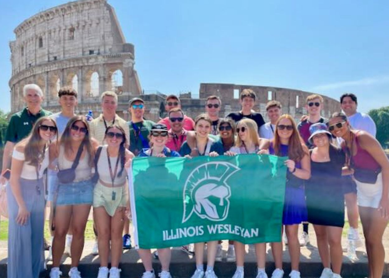
[[[129,177],[135,247],[280,241],[286,159],[135,158]]]

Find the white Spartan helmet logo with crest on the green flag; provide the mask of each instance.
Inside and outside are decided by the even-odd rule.
[[[196,167],[185,182],[182,223],[193,212],[212,221],[226,219],[231,196],[226,179],[238,170],[238,167],[228,162],[207,162]]]

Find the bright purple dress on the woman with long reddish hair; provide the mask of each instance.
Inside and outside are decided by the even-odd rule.
[[[281,144],[281,157],[288,155],[288,146]],[[274,155],[273,144],[270,144],[269,153]],[[301,163],[296,162],[296,168],[301,169]],[[287,170],[289,171],[289,170]],[[305,202],[304,181],[301,179],[300,187],[292,187],[286,184],[284,212],[282,214],[282,224],[294,225],[308,220],[307,204]]]

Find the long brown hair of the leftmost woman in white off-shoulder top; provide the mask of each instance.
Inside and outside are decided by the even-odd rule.
[[[55,121],[52,118],[41,117],[35,122],[28,137],[23,140],[25,143],[25,161],[29,162],[28,164],[35,167],[38,167],[42,162],[44,158],[44,149],[46,149],[46,146],[44,149],[42,149],[40,146],[42,138],[39,134],[39,127],[44,121],[51,121],[54,124],[54,127],[57,127]]]

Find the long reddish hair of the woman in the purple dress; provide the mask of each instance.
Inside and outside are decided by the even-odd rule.
[[[297,130],[296,122],[294,121],[293,117],[289,114],[283,114],[280,116],[280,118],[277,120],[277,123],[275,124],[275,130],[274,133],[274,139],[273,139],[273,148],[275,155],[281,155],[280,149],[281,149],[281,141],[280,136],[278,135],[278,125],[282,119],[288,119],[291,121],[293,126],[293,132],[291,137],[289,137],[289,143],[288,143],[288,157],[294,161],[300,161],[303,159],[305,155],[308,154],[307,147],[303,147],[303,141],[301,139],[300,133]]]

